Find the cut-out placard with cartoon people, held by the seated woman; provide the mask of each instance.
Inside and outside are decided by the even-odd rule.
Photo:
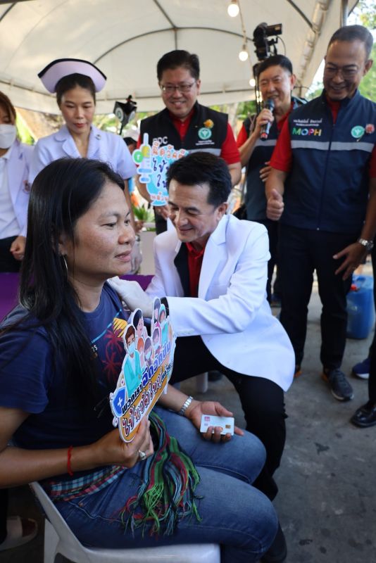
[[[164,308],[162,320],[167,324],[168,337],[163,346],[161,345],[162,331],[158,313],[162,307],[164,308],[159,299],[154,300],[153,310],[156,311],[157,322],[151,320],[151,336],[145,330],[140,310],[132,313],[122,333],[125,358],[118,384],[115,391],[110,393],[110,405],[113,425],[118,426],[120,437],[125,442],[133,440],[140,420],[151,411],[173,372],[175,334],[169,317],[165,317]]]

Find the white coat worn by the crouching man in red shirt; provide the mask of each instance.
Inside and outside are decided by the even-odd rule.
[[[222,217],[206,243],[198,298],[184,297],[174,263],[181,244],[175,229],[156,236],[156,274],[146,289],[150,296],[167,297],[175,334],[200,335],[222,365],[270,379],[287,391],[295,356],[266,300],[270,254],[265,227]]]

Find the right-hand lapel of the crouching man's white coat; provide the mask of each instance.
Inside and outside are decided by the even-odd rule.
[[[212,283],[215,268],[222,259],[226,243],[226,227],[228,217],[224,215],[206,243],[199,281],[199,298],[205,299]]]

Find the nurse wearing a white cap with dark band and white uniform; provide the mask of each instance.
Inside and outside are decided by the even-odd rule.
[[[92,124],[95,94],[106,83],[104,73],[88,61],[61,58],[49,63],[38,76],[49,92],[56,92],[56,101],[65,125],[57,133],[37,142],[32,158],[30,183],[46,165],[58,158],[70,156],[103,160],[124,179],[125,199],[132,209],[128,179],[136,174],[136,167],[130,151],[122,137],[101,131]],[[141,255],[135,245],[132,270],[137,270],[140,263]]]

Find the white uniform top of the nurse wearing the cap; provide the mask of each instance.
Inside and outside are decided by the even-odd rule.
[[[30,183],[49,163],[63,157],[80,158],[75,141],[68,127],[63,125],[57,133],[39,139],[35,145],[30,170]],[[112,167],[123,179],[136,174],[136,166],[127,145],[119,135],[101,131],[92,125],[89,134],[87,158],[101,160]]]

